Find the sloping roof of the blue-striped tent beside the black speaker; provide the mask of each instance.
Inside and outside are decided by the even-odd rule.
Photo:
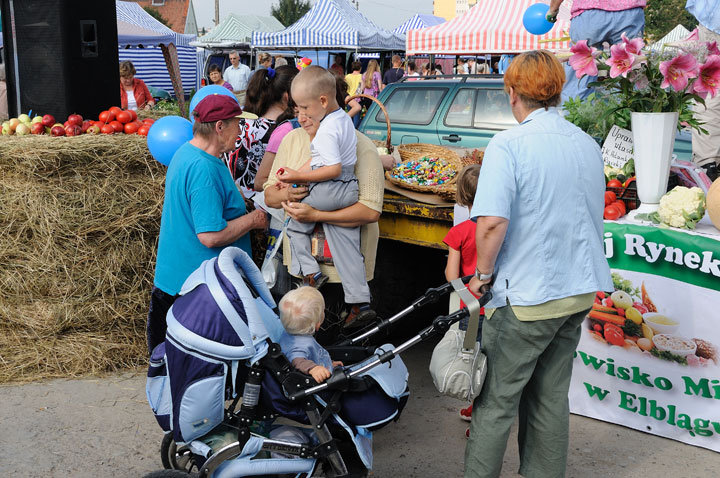
[[[116,2],[118,22],[118,43],[124,46],[158,46],[160,43],[174,43],[175,46],[190,46],[194,35],[176,33],[155,20],[148,12],[134,2]]]

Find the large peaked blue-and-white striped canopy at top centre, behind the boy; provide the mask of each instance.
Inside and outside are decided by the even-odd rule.
[[[318,0],[300,20],[276,33],[253,32],[253,48],[404,50],[403,35],[375,25],[348,0]]]

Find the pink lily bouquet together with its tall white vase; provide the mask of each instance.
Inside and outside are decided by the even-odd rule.
[[[704,98],[720,91],[720,50],[715,42],[684,42],[678,49],[655,52],[644,49],[641,38],[621,38],[603,50],[580,41],[570,49],[568,63],[577,78],[597,77],[589,86],[618,102],[610,113],[629,113],[643,203],[638,212],[650,213],[667,190],[676,128],[686,125],[707,133],[692,106],[704,105]]]

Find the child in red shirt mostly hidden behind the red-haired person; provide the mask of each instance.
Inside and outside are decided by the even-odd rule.
[[[471,208],[475,199],[475,190],[477,189],[477,179],[480,174],[480,165],[472,164],[465,166],[457,180],[456,200],[460,206]],[[477,225],[467,220],[461,222],[457,226],[453,226],[448,231],[443,242],[448,246],[448,262],[445,266],[445,279],[448,281],[475,274],[477,264],[477,246],[475,245],[475,230]],[[457,305],[457,294],[453,292],[450,297],[450,312],[465,307],[462,301]],[[482,321],[485,316],[485,310],[480,309],[480,328],[478,329],[478,337],[482,332]],[[460,321],[460,330],[467,330],[468,319]],[[460,410],[460,418],[470,421],[472,415],[472,404]],[[469,430],[469,429],[468,429]],[[465,432],[467,436],[467,431]]]

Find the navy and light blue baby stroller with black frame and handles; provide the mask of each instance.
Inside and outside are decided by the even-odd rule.
[[[408,399],[399,354],[467,309],[436,318],[397,348],[357,344],[450,290],[430,289],[391,319],[327,347],[333,360],[354,365],[317,384],[277,345],[283,328],[261,272],[241,249],[224,249],[185,281],[166,340],[152,353],[146,393],[166,432],[165,470],[147,478],[367,476],[372,432],[397,420]]]

